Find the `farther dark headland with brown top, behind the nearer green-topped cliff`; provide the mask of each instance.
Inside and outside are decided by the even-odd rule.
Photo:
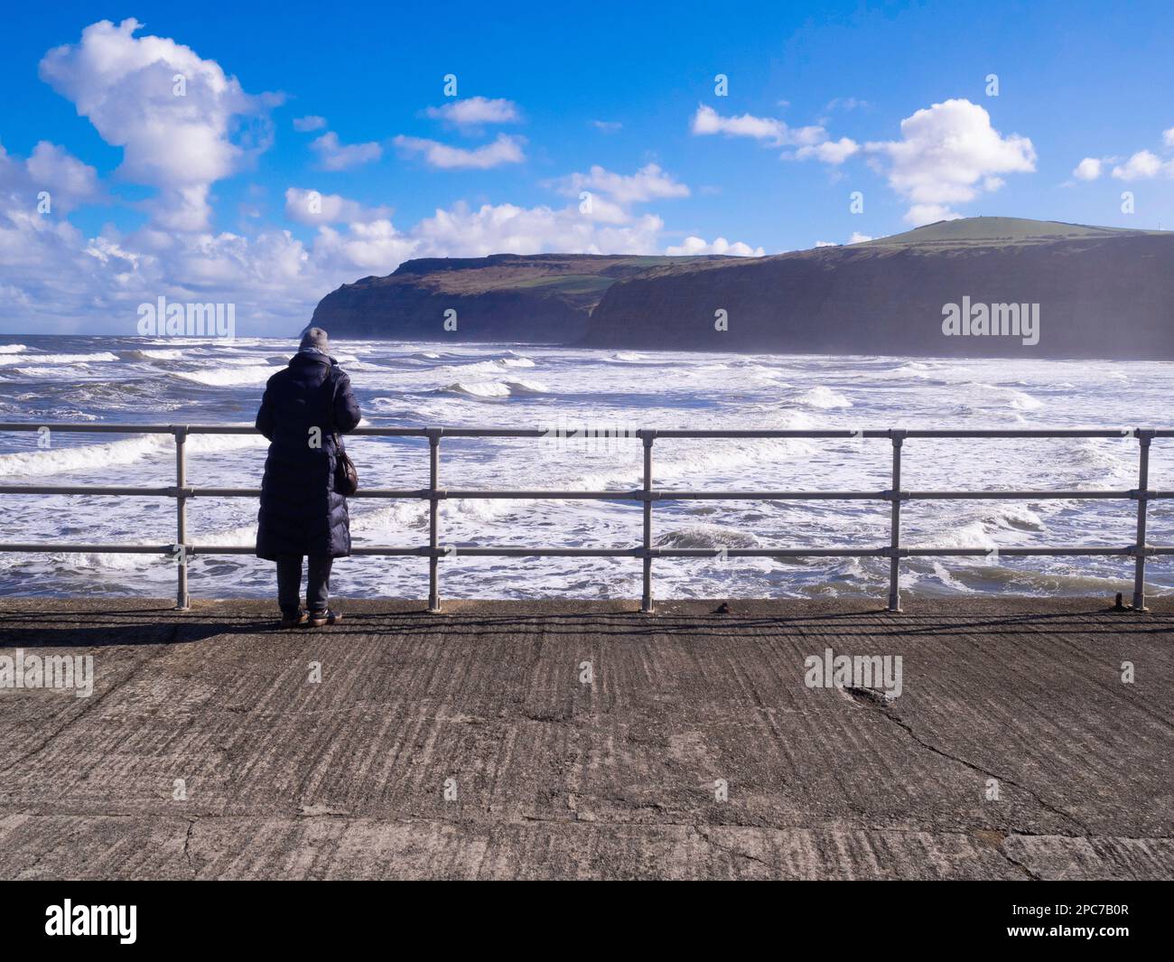
[[[699,260],[724,258],[495,254],[407,261],[386,277],[328,294],[310,323],[338,337],[573,343],[612,284]]]

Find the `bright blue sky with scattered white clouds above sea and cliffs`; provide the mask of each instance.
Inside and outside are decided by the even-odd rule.
[[[284,332],[412,256],[1172,227],[1172,27],[1156,2],[29,5],[0,40],[0,330],[131,332],[166,296]]]

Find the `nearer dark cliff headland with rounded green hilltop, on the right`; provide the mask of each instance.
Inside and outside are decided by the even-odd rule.
[[[1174,235],[1031,230],[1037,223],[971,218],[850,247],[656,269],[607,291],[583,344],[1174,358]],[[958,323],[946,334],[951,304]]]

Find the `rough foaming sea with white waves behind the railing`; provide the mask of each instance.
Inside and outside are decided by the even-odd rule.
[[[148,341],[128,337],[0,335],[0,421],[251,424],[266,378],[291,341]],[[365,425],[568,429],[1134,428],[1169,426],[1174,364],[957,361],[902,357],[709,355],[532,345],[338,341]],[[171,485],[170,436],[0,432],[0,484]],[[194,436],[188,480],[259,485],[261,437]],[[427,485],[427,443],[352,438],[365,487]],[[672,440],[654,446],[657,487],[883,490],[885,439]],[[634,489],[639,439],[445,439],[441,485],[506,489]],[[911,439],[903,487],[1132,489],[1138,442],[1113,439]],[[1154,442],[1151,487],[1174,489],[1174,439]],[[427,543],[424,502],[352,499],[357,545]],[[196,498],[196,544],[250,545],[251,499]],[[912,502],[905,546],[1004,549],[1124,546],[1134,539],[1132,502]],[[880,546],[882,502],[679,502],[654,509],[663,547],[713,549],[713,558],[654,561],[657,598],[861,597],[883,600],[884,559],[722,560],[726,547]],[[639,598],[633,558],[497,559],[461,546],[634,547],[635,503],[445,500],[440,541],[446,598]],[[1174,503],[1149,506],[1154,545],[1174,538]],[[175,503],[149,497],[0,495],[0,541],[175,540]],[[916,594],[1128,591],[1126,558],[911,559],[902,587]],[[269,597],[274,566],[249,556],[196,557],[193,597]],[[1152,559],[1149,590],[1174,590],[1174,565]],[[171,597],[174,563],[134,554],[0,553],[0,594]],[[353,557],[335,566],[337,597],[421,598],[423,558]]]

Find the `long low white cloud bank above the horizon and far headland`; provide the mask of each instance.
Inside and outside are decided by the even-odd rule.
[[[292,191],[288,203],[304,200],[299,189]],[[339,216],[356,213],[349,207],[352,201],[337,202]],[[272,229],[248,237],[151,228],[121,235],[107,229],[87,238],[68,221],[0,203],[4,319],[50,330],[99,324],[129,334],[137,305],[166,294],[175,301],[232,302],[238,334],[276,334],[303,324],[323,295],[339,284],[390,274],[412,257],[656,254],[663,227],[652,214],[600,223],[580,214],[578,204],[553,209],[458,203],[406,230],[389,217],[319,224],[309,244]]]

